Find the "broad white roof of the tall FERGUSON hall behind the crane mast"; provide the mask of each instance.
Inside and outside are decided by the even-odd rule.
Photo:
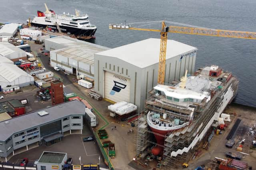
[[[196,47],[180,43],[178,41],[167,41],[166,60],[190,51],[197,50]],[[107,51],[97,53],[96,55],[116,57],[134,66],[145,68],[147,66],[159,63],[160,39],[150,38]]]

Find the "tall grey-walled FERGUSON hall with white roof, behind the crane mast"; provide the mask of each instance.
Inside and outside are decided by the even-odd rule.
[[[126,101],[141,111],[157,85],[160,39],[146,39],[94,55],[94,90],[113,102]],[[194,72],[196,47],[168,40],[165,82]]]

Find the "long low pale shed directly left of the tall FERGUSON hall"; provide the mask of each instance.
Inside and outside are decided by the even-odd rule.
[[[94,78],[94,54],[109,49],[66,36],[45,39],[45,47],[50,51],[52,66],[90,78]]]

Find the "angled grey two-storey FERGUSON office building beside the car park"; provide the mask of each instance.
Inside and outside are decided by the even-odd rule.
[[[36,145],[48,146],[61,141],[64,133],[82,133],[83,116],[85,105],[72,100],[1,121],[0,157],[7,161],[17,149],[25,151]]]

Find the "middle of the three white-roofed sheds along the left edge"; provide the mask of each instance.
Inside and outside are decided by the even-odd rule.
[[[7,42],[0,42],[0,55],[12,61],[18,61],[19,59],[27,59],[26,51],[23,51],[22,49]]]

